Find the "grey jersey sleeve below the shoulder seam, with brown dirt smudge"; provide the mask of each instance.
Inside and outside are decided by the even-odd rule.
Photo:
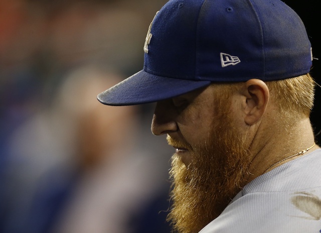
[[[319,190],[246,194],[232,202],[200,233],[319,232],[321,230]]]

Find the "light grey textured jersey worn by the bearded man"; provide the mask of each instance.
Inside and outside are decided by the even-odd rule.
[[[321,149],[257,177],[200,233],[321,232]]]

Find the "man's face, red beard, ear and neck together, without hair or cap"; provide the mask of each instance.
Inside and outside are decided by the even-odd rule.
[[[314,137],[308,117],[294,122],[278,114],[269,88],[259,79],[233,87],[211,84],[157,102],[151,131],[167,134],[176,149],[170,172],[174,228],[198,232],[244,185],[310,147]]]

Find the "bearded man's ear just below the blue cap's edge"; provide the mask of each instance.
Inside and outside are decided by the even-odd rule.
[[[250,79],[244,83],[242,94],[246,96],[246,101],[242,102],[244,122],[253,125],[266,110],[270,97],[269,88],[260,79]]]

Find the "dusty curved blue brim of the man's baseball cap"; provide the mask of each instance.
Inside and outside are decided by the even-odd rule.
[[[101,92],[97,98],[101,103],[113,106],[151,103],[205,87],[210,83],[162,77],[141,70]]]

